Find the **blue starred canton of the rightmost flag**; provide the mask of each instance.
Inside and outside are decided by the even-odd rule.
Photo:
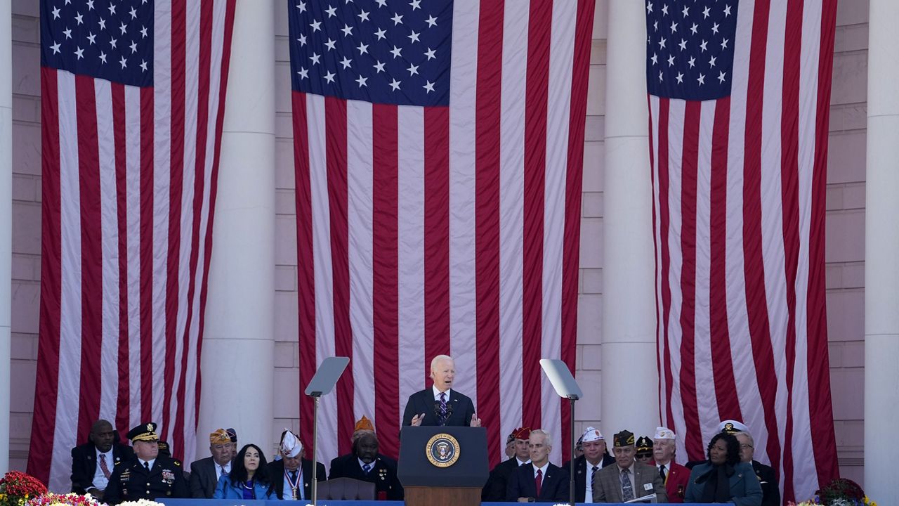
[[[737,0],[647,0],[650,95],[713,100],[731,93]]]

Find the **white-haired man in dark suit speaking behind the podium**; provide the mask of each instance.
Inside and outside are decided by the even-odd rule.
[[[403,425],[438,425],[480,427],[475,404],[466,395],[452,390],[456,363],[452,357],[438,355],[431,361],[431,388],[413,393],[405,403]]]

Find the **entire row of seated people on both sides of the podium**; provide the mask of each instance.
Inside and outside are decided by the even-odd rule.
[[[686,466],[674,462],[675,434],[659,427],[654,438],[636,438],[628,430],[615,434],[612,455],[599,429],[588,427],[578,440],[574,458],[577,502],[624,502],[655,495],[657,502],[734,502],[743,506],[779,504],[773,470],[752,459],[748,429],[735,420],[722,421],[708,443],[708,460]],[[210,456],[182,472],[182,463],[167,455],[156,424],[128,433],[132,447],[118,442],[107,420],[93,424],[90,442],[72,449],[72,490],[89,492],[109,504],[156,498],[279,499],[311,497],[312,462],[304,458],[298,436],[284,430],[278,456],[268,462],[262,448],[248,444],[236,451],[234,429],[209,434]],[[164,452],[165,448],[165,452]],[[362,417],[352,435],[352,452],[331,461],[330,478],[375,483],[378,499],[400,501],[404,489],[396,476],[396,460],[378,452],[378,437]],[[483,501],[565,502],[569,496],[570,462],[549,462],[550,434],[541,429],[515,429],[507,438],[509,456],[491,471]],[[319,481],[325,466],[316,463]]]

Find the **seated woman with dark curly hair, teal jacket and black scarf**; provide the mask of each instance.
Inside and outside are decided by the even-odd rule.
[[[732,502],[761,506],[761,485],[752,465],[740,462],[740,442],[722,432],[708,442],[708,462],[690,472],[684,502]]]

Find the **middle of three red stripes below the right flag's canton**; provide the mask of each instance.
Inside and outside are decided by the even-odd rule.
[[[696,198],[699,170],[699,102],[686,103],[681,155],[681,403],[687,427],[699,429],[696,391]],[[677,198],[677,195],[672,195]],[[690,430],[690,429],[688,429]],[[698,430],[699,431],[699,430]]]

